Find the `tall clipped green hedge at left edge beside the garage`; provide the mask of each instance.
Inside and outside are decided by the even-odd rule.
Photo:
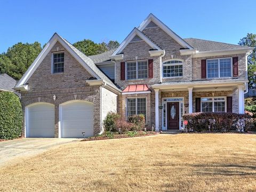
[[[19,97],[12,92],[1,92],[0,138],[18,138],[21,135],[22,119],[22,108]]]

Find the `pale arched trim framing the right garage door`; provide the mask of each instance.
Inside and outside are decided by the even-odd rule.
[[[89,101],[85,101],[85,100],[71,100],[71,101],[66,101],[66,102],[63,102],[59,105],[59,138],[63,138],[63,134],[62,134],[62,129],[63,129],[63,107],[70,104],[70,103],[75,103],[75,102],[83,102],[87,105],[90,105],[92,107],[92,113],[94,112],[93,108],[94,108],[94,105],[93,105],[93,102],[89,102]],[[94,114],[92,114],[94,115]],[[93,118],[92,118],[93,119]],[[94,124],[92,123],[92,126]]]

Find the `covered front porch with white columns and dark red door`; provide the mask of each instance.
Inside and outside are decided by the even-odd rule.
[[[183,129],[182,115],[196,112],[244,113],[247,81],[236,79],[154,84],[156,131]]]

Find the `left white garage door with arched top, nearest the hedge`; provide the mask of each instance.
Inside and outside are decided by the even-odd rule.
[[[27,110],[26,137],[54,138],[54,105],[36,103]]]

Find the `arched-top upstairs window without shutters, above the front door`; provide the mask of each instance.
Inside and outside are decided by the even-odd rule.
[[[183,62],[171,60],[163,62],[163,77],[181,77],[183,76]]]

